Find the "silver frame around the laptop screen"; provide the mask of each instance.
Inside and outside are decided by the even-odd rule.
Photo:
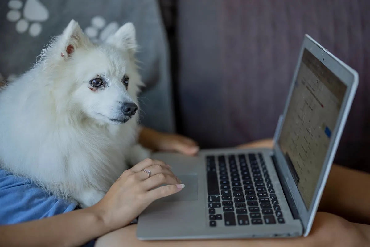
[[[303,198],[301,194],[299,193],[299,190],[296,186],[296,183],[293,179],[293,176],[289,170],[288,164],[286,163],[286,160],[284,158],[284,155],[278,143],[281,130],[282,130],[282,127],[285,121],[285,116],[286,116],[287,109],[289,106],[290,98],[292,96],[293,88],[294,88],[295,81],[297,78],[297,74],[300,68],[303,51],[305,49],[310,51],[310,53],[312,53],[317,59],[319,59],[329,70],[331,70],[347,86],[347,90],[344,95],[342,107],[340,108],[338,120],[336,122],[335,128],[333,129],[332,139],[330,140],[330,144],[328,148],[328,150],[331,150],[331,151],[327,152],[326,154],[324,164],[320,172],[319,180],[317,182],[319,186],[317,186],[314,191],[314,196],[313,196],[313,199],[312,199],[312,202],[309,208],[306,207],[303,201]],[[332,166],[340,138],[342,136],[343,128],[345,126],[347,116],[349,114],[349,111],[350,111],[350,108],[353,102],[353,98],[357,90],[358,81],[359,81],[358,74],[355,70],[351,69],[349,66],[347,66],[342,61],[340,61],[335,56],[333,56],[333,54],[331,54],[329,51],[324,49],[320,44],[318,44],[315,40],[313,40],[309,35],[307,34],[305,35],[301,49],[300,49],[298,62],[297,62],[297,65],[294,71],[293,80],[290,86],[289,94],[286,100],[285,108],[282,114],[281,123],[279,124],[278,129],[276,130],[276,133],[275,133],[275,144],[274,144],[274,151],[275,151],[275,155],[277,159],[277,166],[279,166],[279,169],[282,172],[282,177],[285,178],[286,184],[289,187],[290,194],[293,197],[293,201],[296,204],[296,207],[297,207],[297,210],[300,216],[300,220],[302,221],[304,236],[307,236],[311,230],[314,216],[319,206],[320,198],[322,196],[322,192],[323,192],[327,177],[329,175],[329,171]]]

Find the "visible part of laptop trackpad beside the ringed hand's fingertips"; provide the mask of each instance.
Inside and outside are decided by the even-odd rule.
[[[189,174],[189,175],[178,175],[177,176],[185,188],[180,192],[173,194],[168,197],[158,199],[157,201],[169,202],[169,201],[197,201],[198,200],[198,175]]]

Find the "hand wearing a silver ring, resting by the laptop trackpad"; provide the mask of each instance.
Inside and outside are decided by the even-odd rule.
[[[149,178],[148,173],[142,169],[151,172]],[[161,187],[156,188],[158,186]],[[167,164],[145,159],[122,173],[107,194],[91,208],[102,218],[106,227],[113,231],[127,226],[153,201],[177,193],[182,188],[184,184],[181,184]]]

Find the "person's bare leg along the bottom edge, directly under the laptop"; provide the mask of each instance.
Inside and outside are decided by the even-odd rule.
[[[350,223],[329,213],[317,213],[312,231],[307,237],[233,240],[179,240],[140,241],[136,238],[136,225],[121,228],[98,238],[100,246],[248,246],[248,247],[355,247],[370,246],[370,226]]]

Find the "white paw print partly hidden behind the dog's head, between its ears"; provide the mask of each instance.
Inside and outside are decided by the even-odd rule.
[[[119,24],[115,21],[107,24],[103,17],[95,16],[91,19],[91,26],[86,27],[85,34],[93,42],[102,42],[111,34],[114,34],[119,27]]]

